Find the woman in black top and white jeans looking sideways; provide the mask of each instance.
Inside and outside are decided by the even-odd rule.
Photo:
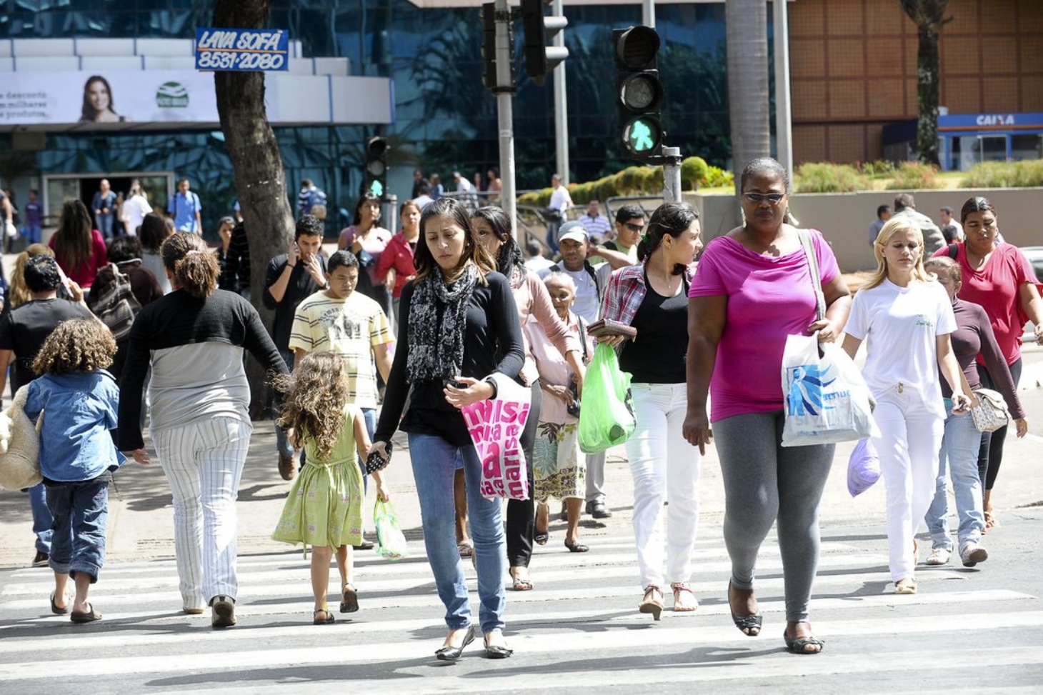
[[[684,356],[688,349],[688,285],[702,247],[699,213],[669,202],[652,213],[637,246],[637,265],[612,273],[602,316],[637,329],[620,354],[632,375],[636,429],[627,440],[634,477],[634,540],[645,595],[641,613],[659,620],[662,586],[670,582],[674,610],[698,607],[688,578],[699,522],[699,451],[684,440],[687,411]],[[618,344],[622,338],[611,342]],[[663,502],[666,573],[662,568]]]

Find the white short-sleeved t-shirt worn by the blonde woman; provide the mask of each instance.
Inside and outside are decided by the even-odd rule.
[[[874,396],[915,389],[925,404],[942,409],[936,338],[956,330],[952,303],[936,282],[899,287],[890,280],[854,295],[844,329],[867,340],[863,376]]]

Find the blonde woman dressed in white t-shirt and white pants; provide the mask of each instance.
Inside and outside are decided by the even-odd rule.
[[[876,272],[854,296],[844,350],[866,340],[864,374],[880,436],[873,437],[887,488],[888,551],[896,594],[916,594],[920,520],[935,496],[945,432],[939,372],[952,388],[952,413],[970,401],[952,353],[956,330],[945,288],[923,268],[923,235],[905,218],[889,221],[873,246]]]

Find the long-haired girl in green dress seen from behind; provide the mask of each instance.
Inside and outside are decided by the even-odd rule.
[[[312,622],[334,620],[326,603],[330,559],[336,549],[340,570],[341,613],[359,609],[351,583],[351,546],[362,543],[362,472],[357,456],[369,453],[369,435],[358,406],[350,403],[343,360],[331,352],[308,355],[281,390],[286,393],[280,425],[295,447],[305,448],[305,466],[293,481],[272,537],[312,546]],[[387,500],[380,473],[373,473],[377,497]]]

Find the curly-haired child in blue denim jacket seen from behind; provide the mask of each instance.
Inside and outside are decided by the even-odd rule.
[[[47,506],[54,517],[50,567],[54,570],[51,613],[74,623],[101,619],[87,600],[105,558],[108,482],[126,458],[116,450],[119,387],[104,367],[113,362],[116,340],[103,323],[73,318],[58,323],[37,355],[25,414],[40,431],[40,473]],[[70,612],[66,586],[76,584]]]

